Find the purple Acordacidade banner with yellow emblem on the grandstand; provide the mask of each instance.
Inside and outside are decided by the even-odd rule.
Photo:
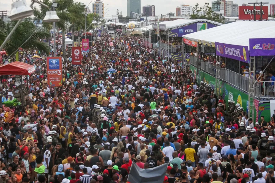
[[[215,45],[216,54],[218,56],[239,60],[245,63],[250,63],[247,46],[229,45],[219,42],[215,42]]]

